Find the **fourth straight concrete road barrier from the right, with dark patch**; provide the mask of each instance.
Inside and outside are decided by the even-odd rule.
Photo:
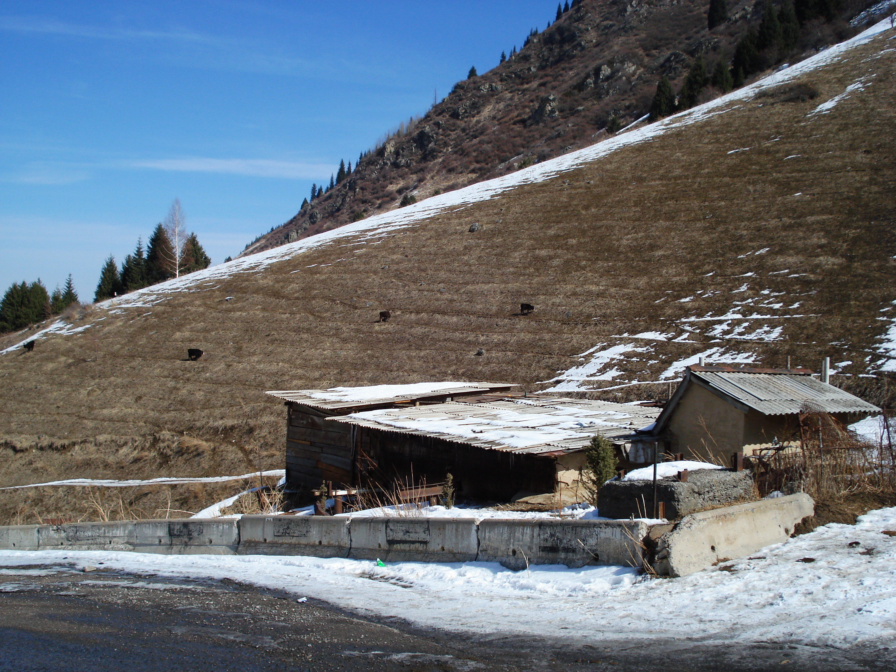
[[[237,521],[190,518],[137,521],[134,550],[165,555],[233,556],[239,546]]]

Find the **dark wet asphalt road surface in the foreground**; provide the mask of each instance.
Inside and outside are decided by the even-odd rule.
[[[0,569],[0,670],[893,670],[894,647],[461,635],[235,582]],[[645,615],[645,617],[650,617]],[[564,635],[564,633],[558,633]]]

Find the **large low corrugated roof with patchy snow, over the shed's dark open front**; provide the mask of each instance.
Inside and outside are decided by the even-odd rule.
[[[367,410],[328,419],[387,432],[434,436],[489,450],[543,454],[582,450],[596,434],[622,440],[658,416],[659,409],[629,404],[527,397]]]

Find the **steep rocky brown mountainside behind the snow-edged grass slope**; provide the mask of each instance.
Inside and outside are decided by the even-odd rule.
[[[583,0],[481,76],[457,82],[422,118],[369,152],[352,174],[295,217],[246,246],[254,254],[534,163],[607,137],[646,114],[660,77],[678,90],[701,56],[711,72],[762,15],[762,0],[729,3],[729,21],[707,29],[706,0]],[[867,0],[849,0],[852,16]],[[855,33],[814,22],[796,59]],[[508,47],[508,53],[511,49]],[[719,95],[711,87],[702,99]],[[349,158],[350,159],[350,158]],[[405,201],[407,202],[407,201]]]

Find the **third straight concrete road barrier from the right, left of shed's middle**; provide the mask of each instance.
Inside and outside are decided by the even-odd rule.
[[[241,556],[348,557],[349,519],[330,516],[243,516],[239,521]]]

